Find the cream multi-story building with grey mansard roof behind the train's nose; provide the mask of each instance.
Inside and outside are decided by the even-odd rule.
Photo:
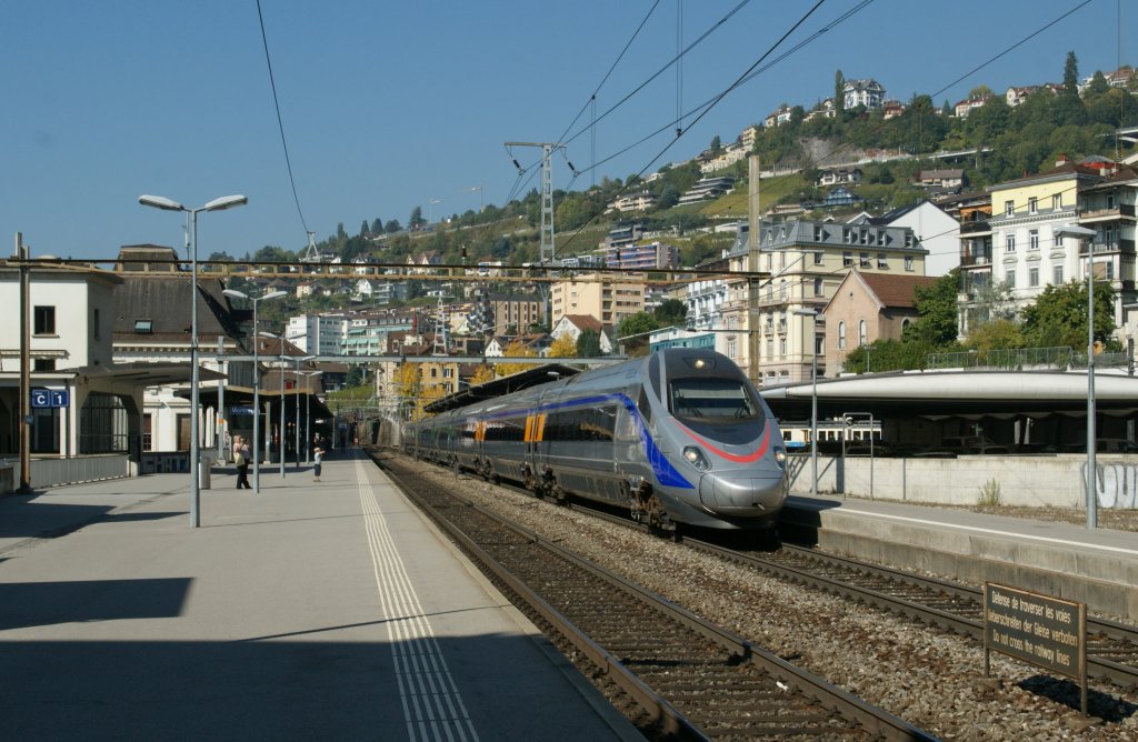
[[[727,256],[731,270],[750,270],[750,253],[744,228]],[[751,278],[728,279],[720,315],[724,327],[715,329],[725,335],[726,355],[764,386],[808,381],[815,348],[823,356],[819,373],[825,368],[834,374],[841,370],[836,335],[830,340],[824,323],[809,313],[825,308],[851,270],[924,275],[926,254],[907,226],[764,220],[757,270],[769,278],[757,283]]]

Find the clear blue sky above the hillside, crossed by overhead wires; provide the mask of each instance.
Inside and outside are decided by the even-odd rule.
[[[11,254],[17,231],[33,256],[181,247],[182,217],[140,206],[142,193],[192,207],[248,196],[246,207],[199,216],[200,257],[300,249],[305,225],[318,239],[338,223],[355,234],[364,220],[406,223],[415,206],[435,219],[461,214],[478,208],[479,192],[469,190],[478,184],[487,204],[501,205],[517,176],[503,142],[556,141],[653,2],[262,0],[299,211],[255,0],[8,2],[0,14],[0,254]],[[684,1],[684,44],[737,3]],[[1069,50],[1081,75],[1138,56],[1125,46],[1132,41],[1120,42],[1120,0],[1092,0],[942,90],[1079,0],[876,0],[728,94],[652,164],[675,138],[677,97],[685,113],[712,99],[813,5],[752,0],[684,58],[678,96],[669,68],[603,118],[597,160],[666,133],[601,165],[595,180],[654,172],[717,134],[732,141],[782,102],[810,108],[832,94],[838,69],[873,77],[902,101],[937,93],[940,106],[980,84],[1003,92],[1061,81]],[[780,50],[857,5],[827,0]],[[1138,7],[1121,7],[1122,27],[1135,27]],[[599,115],[676,48],[677,0],[660,0],[600,89]],[[589,118],[586,112],[572,133]],[[516,156],[528,166],[537,151]],[[586,170],[591,134],[574,139],[567,156]],[[555,188],[583,189],[593,179],[586,172],[570,183],[566,160],[555,159]]]

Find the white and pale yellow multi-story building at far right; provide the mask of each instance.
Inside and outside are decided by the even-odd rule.
[[[986,295],[995,283],[1003,283],[1011,295],[1012,308],[1019,312],[1048,286],[1066,283],[1086,275],[1081,263],[1081,246],[1074,244],[1074,240],[1056,237],[1055,230],[1079,224],[1080,192],[1096,193],[1095,198],[1100,195],[1103,199],[1108,192],[1119,192],[1111,188],[1103,191],[1088,190],[1102,183],[1112,168],[1113,164],[1105,160],[1075,164],[1063,158],[1055,167],[1042,173],[988,189],[991,193],[989,230],[962,230],[960,233],[960,258],[966,271],[959,302],[962,335],[967,335],[975,322],[987,319]],[[1118,219],[1113,214],[1107,216],[1100,234],[1108,236],[1108,228],[1105,225],[1121,225],[1121,209]],[[982,223],[978,223],[978,226],[982,228]],[[988,242],[980,241],[986,239],[990,240],[990,258],[986,254]],[[1110,261],[1110,269],[1106,267],[1107,263],[1103,263],[1103,267],[1097,270],[1121,271],[1122,252],[1115,249],[1108,254],[1116,259]],[[1130,272],[1127,280],[1131,283],[1132,255],[1131,248],[1127,262]],[[972,264],[968,265],[968,262]],[[1120,303],[1118,316],[1121,315]]]

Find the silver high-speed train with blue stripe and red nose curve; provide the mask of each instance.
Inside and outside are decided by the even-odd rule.
[[[726,356],[669,348],[410,423],[419,457],[538,495],[628,505],[653,527],[767,529],[786,498],[778,424]]]

